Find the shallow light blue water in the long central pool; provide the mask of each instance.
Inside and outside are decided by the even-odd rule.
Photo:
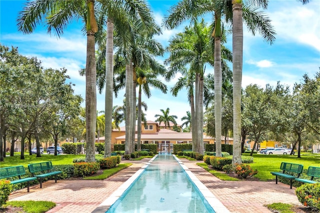
[[[214,212],[172,155],[158,155],[106,212]]]

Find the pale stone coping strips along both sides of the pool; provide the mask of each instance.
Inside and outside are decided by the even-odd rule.
[[[177,158],[174,154],[172,156],[181,165],[183,170],[186,172],[191,181],[196,185],[199,191],[202,193],[204,198],[207,200],[209,205],[214,209],[216,213],[227,213],[230,212],[221,202],[214,196],[214,194],[186,167],[183,162]],[[131,177],[129,177],[125,182],[123,182],[109,197],[107,197],[103,202],[101,202],[92,213],[105,213],[110,206],[115,203],[115,201],[123,194],[123,192],[130,187],[136,178],[144,171],[144,169],[157,157],[154,155],[148,162],[141,166]]]

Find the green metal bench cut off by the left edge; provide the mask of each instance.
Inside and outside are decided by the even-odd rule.
[[[9,166],[0,168],[0,179],[7,177],[18,177],[18,179],[10,180],[11,184],[27,182],[28,192],[30,187],[30,181],[35,180],[36,177],[24,177],[21,178],[21,175],[25,174],[25,169],[23,165]]]

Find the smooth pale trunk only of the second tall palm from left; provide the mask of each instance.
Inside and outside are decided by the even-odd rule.
[[[104,125],[104,157],[111,155],[112,132],[112,90],[113,90],[113,22],[106,22],[106,50],[105,50],[105,125]]]

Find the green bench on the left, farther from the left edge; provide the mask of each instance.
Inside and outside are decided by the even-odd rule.
[[[51,161],[28,164],[28,169],[32,176],[39,179],[40,188],[42,188],[42,178],[54,175],[54,180],[56,182],[56,175],[62,173],[62,171],[51,171],[52,168]]]

